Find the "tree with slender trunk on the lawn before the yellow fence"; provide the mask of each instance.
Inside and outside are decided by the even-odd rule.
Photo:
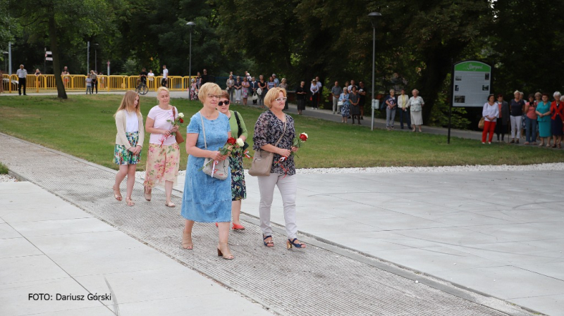
[[[9,10],[18,18],[20,25],[39,39],[49,38],[53,52],[53,71],[57,96],[67,99],[61,72],[59,41],[63,49],[67,43],[84,42],[85,37],[97,34],[111,18],[109,2],[106,0],[8,0]],[[116,3],[114,3],[116,4]]]

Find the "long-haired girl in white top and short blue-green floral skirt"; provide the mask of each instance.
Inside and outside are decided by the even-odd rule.
[[[125,176],[127,176],[125,202],[128,203],[128,206],[134,206],[135,203],[131,199],[131,193],[133,192],[133,184],[135,184],[135,168],[141,158],[141,148],[145,140],[143,118],[137,92],[132,90],[125,92],[125,96],[123,96],[114,118],[116,119],[116,128],[118,129],[116,146],[114,147],[114,163],[119,165],[116,182],[114,183],[114,198],[117,201],[121,201],[119,186],[123,179],[125,179]]]

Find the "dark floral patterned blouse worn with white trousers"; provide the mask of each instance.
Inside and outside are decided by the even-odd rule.
[[[278,148],[291,149],[295,138],[294,119],[288,114],[284,115],[286,115],[286,132],[278,143]],[[252,148],[255,149],[255,151],[258,151],[261,146],[266,144],[274,146],[276,141],[278,141],[278,138],[280,138],[283,130],[284,122],[282,122],[279,118],[276,118],[276,115],[274,115],[271,110],[267,110],[259,116],[257,125],[255,125],[255,135],[252,137],[252,141],[255,144]],[[270,172],[284,174],[286,173],[284,169],[286,169],[288,172],[287,175],[295,175],[294,156],[290,155],[288,159],[281,163],[284,168],[277,163],[280,158],[281,156],[278,155],[278,153],[274,154]]]

